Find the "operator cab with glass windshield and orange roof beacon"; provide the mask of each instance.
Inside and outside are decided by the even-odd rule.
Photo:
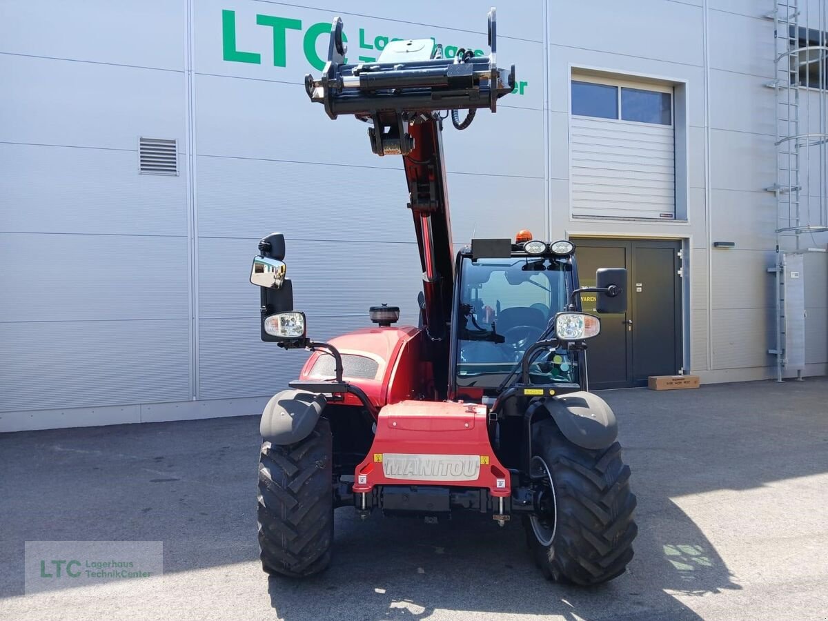
[[[573,250],[569,242],[532,241],[532,233],[523,230],[508,244],[508,256],[475,256],[471,247],[458,254],[451,357],[458,398],[497,396],[527,349],[567,309],[578,288]],[[505,251],[502,244],[499,252]],[[560,392],[580,390],[582,359],[561,344],[532,358],[529,377]]]

